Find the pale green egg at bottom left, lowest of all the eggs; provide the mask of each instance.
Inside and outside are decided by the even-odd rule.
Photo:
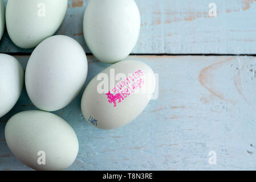
[[[23,111],[9,119],[5,139],[14,156],[36,170],[63,170],[74,163],[79,144],[72,127],[55,114]]]

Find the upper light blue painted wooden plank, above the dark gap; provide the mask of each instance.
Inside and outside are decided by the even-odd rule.
[[[256,53],[255,0],[135,1],[141,14],[141,32],[132,53]],[[87,53],[82,26],[88,2],[69,0],[64,22],[56,32],[78,40]],[[209,3],[216,3],[216,17],[208,14]],[[0,52],[31,51],[16,47],[7,32],[0,42]]]

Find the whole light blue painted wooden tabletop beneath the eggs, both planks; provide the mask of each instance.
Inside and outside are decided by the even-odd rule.
[[[141,33],[127,59],[144,61],[159,73],[159,98],[135,121],[110,131],[83,118],[82,92],[55,111],[79,139],[69,170],[256,169],[256,2],[215,0],[217,16],[210,17],[211,2],[136,0]],[[78,40],[89,55],[86,85],[108,67],[91,56],[83,38],[87,3],[69,1],[56,32]],[[31,51],[16,47],[7,32],[0,42],[0,52],[15,55],[24,69]],[[0,118],[0,170],[30,169],[11,154],[4,129],[12,115],[34,109],[24,89]],[[209,161],[215,154],[216,164]]]

